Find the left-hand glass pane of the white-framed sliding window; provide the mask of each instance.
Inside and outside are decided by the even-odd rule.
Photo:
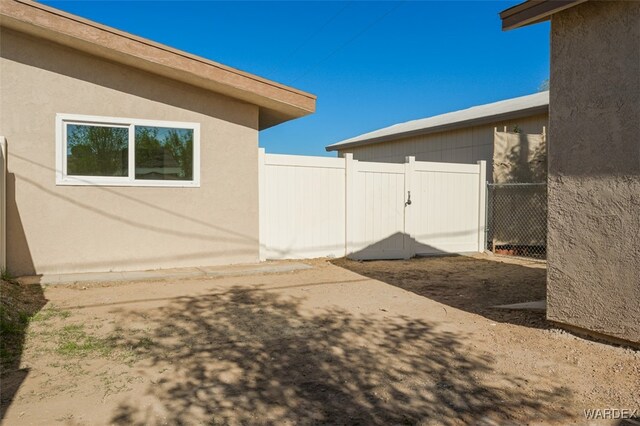
[[[129,129],[67,124],[67,175],[127,176]]]

